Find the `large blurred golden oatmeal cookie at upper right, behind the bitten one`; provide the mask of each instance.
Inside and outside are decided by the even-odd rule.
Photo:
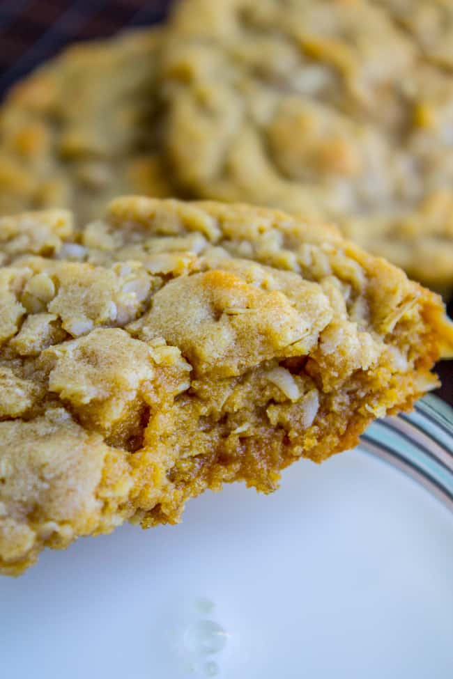
[[[452,25],[450,0],[182,0],[162,64],[180,187],[333,219],[452,288]]]

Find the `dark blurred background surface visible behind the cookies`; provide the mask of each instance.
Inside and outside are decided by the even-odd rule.
[[[170,4],[171,0],[0,0],[0,98],[68,42],[157,23]],[[443,386],[437,393],[453,405],[453,361],[440,363],[438,373]]]

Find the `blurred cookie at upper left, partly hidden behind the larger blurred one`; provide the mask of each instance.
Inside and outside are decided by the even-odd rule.
[[[157,152],[161,33],[66,49],[0,108],[0,214],[70,208],[85,221],[121,193],[171,194]]]

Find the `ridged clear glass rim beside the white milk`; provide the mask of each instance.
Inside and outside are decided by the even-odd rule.
[[[422,483],[453,511],[453,409],[429,394],[411,413],[374,422],[360,448]]]

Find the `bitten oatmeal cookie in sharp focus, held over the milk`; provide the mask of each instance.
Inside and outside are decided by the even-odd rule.
[[[224,482],[277,487],[436,386],[436,295],[283,212],[120,198],[0,219],[0,569]]]

